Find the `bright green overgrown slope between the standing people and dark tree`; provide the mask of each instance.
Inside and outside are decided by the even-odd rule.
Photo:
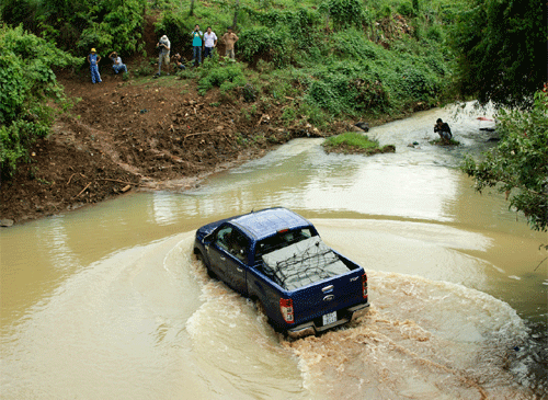
[[[239,3],[239,5],[238,5]],[[454,2],[396,0],[191,1],[156,4],[157,33],[189,55],[194,24],[217,34],[237,21],[237,55],[253,69],[227,78],[259,99],[288,101],[287,117],[324,126],[333,118],[397,117],[452,96],[454,57],[446,43]],[[186,73],[207,79],[207,72]],[[220,83],[219,85],[221,85]],[[288,99],[292,98],[292,99]]]

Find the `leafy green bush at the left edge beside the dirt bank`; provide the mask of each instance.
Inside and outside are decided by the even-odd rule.
[[[68,103],[52,67],[78,65],[54,44],[23,31],[0,25],[0,164],[2,178],[13,174],[28,147],[49,133],[54,108]]]

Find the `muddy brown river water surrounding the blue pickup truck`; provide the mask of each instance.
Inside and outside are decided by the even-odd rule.
[[[478,115],[434,110],[376,127],[397,151],[370,158],[294,140],[193,192],[1,230],[1,397],[541,398],[547,238],[456,168],[491,146]],[[437,117],[460,147],[429,144]],[[310,218],[366,268],[368,312],[288,342],[205,274],[195,229],[271,206]]]

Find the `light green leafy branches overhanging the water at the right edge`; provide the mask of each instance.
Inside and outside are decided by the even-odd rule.
[[[548,93],[538,91],[528,111],[501,110],[496,130],[501,141],[476,163],[467,158],[463,170],[478,191],[496,186],[510,207],[523,212],[535,230],[548,230]]]

